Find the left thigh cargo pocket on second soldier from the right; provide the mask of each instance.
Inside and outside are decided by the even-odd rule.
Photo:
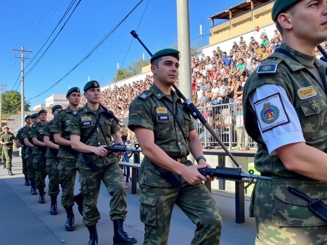
[[[139,207],[139,218],[141,222],[148,226],[157,226],[156,205],[157,197],[140,193],[138,201],[141,203]]]

